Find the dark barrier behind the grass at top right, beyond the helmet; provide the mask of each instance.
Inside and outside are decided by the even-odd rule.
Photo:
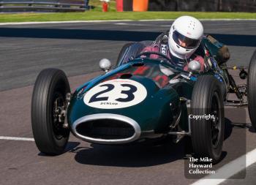
[[[149,11],[256,12],[255,0],[149,0]]]

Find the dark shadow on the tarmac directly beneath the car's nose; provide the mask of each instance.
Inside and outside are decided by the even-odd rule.
[[[160,144],[161,143],[161,144]],[[178,144],[166,138],[160,143],[134,143],[126,146],[91,144],[75,148],[75,160],[84,165],[148,167],[184,159],[184,140]]]

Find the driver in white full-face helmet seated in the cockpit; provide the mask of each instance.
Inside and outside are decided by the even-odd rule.
[[[169,35],[161,34],[152,45],[143,48],[143,52],[158,52],[169,57],[179,67],[188,70],[190,61],[200,63],[200,72],[204,70],[204,59],[195,54],[203,38],[203,25],[191,16],[181,16],[170,26]],[[160,56],[151,54],[151,58]]]

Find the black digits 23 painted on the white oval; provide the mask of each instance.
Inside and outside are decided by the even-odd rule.
[[[116,99],[116,101],[118,102],[130,102],[132,101],[132,99],[135,99],[135,96],[133,93],[135,93],[135,91],[137,91],[137,87],[132,86],[131,84],[121,84],[121,86],[123,87],[129,87],[129,90],[123,90],[121,91],[121,94],[126,94],[127,97],[126,98],[118,98]],[[100,94],[104,94],[106,92],[112,91],[113,88],[115,88],[115,86],[113,84],[103,84],[100,87],[107,87],[107,89],[105,89],[104,91],[99,91],[97,94],[94,94],[94,96],[91,97],[91,99],[89,100],[89,103],[91,102],[98,102],[98,101],[108,101],[108,97],[99,97]]]

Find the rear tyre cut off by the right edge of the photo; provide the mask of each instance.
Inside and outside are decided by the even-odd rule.
[[[249,118],[252,127],[256,130],[256,50],[249,62],[248,78],[247,78],[247,99]]]

